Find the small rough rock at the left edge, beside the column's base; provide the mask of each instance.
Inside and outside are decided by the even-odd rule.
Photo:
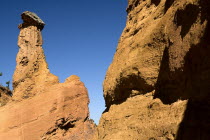
[[[0,86],[0,107],[6,105],[11,100],[12,92],[3,86]]]

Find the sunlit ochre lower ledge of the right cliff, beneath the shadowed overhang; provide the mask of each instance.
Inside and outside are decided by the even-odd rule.
[[[95,139],[172,140],[186,103],[164,105],[159,99],[153,100],[151,93],[128,98],[120,105],[112,105],[102,115]]]

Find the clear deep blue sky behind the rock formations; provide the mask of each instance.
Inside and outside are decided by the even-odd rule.
[[[43,48],[51,73],[63,82],[78,75],[90,97],[90,117],[105,109],[102,83],[125,27],[127,0],[1,0],[0,83],[12,81],[20,14],[35,12],[45,23]]]

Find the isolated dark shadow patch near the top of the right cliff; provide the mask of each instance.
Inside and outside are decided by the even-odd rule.
[[[174,17],[174,22],[177,26],[181,26],[181,37],[184,38],[189,32],[191,26],[197,20],[199,14],[197,5],[188,4],[184,10],[178,10]]]

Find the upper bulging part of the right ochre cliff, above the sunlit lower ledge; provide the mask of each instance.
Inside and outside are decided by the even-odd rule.
[[[165,96],[168,102],[191,96],[181,91],[186,90],[184,88],[192,90],[192,87],[187,86],[193,86],[193,83],[185,85],[191,80],[190,75],[194,75],[191,81],[202,81],[199,76],[206,77],[204,71],[208,69],[201,66],[201,70],[195,65],[205,65],[201,64],[205,61],[209,63],[209,47],[206,46],[209,36],[209,2],[129,0],[127,12],[126,27],[104,81],[107,107],[133,94],[154,90],[157,80],[161,90],[161,95],[157,93],[157,96]],[[193,63],[194,68],[187,66],[190,63]],[[175,80],[178,77],[183,79]],[[205,82],[202,85],[204,89],[208,86]],[[193,96],[200,95],[194,93]]]

